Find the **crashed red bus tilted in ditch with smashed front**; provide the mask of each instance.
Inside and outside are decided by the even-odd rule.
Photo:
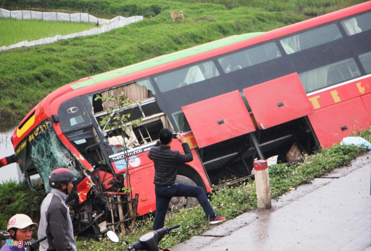
[[[27,183],[68,166],[78,178],[75,233],[117,221],[109,197],[124,196],[126,170],[139,215],[155,211],[147,151],[161,128],[183,131],[194,160],[177,180],[210,192],[220,180],[251,177],[255,158],[289,162],[341,141],[371,122],[371,2],[266,33],[249,33],[159,56],[69,83],[35,106],[13,133]],[[108,102],[137,102],[128,132],[99,126]],[[139,102],[141,101],[141,102]],[[115,142],[125,133],[129,150]],[[172,149],[182,151],[178,142]],[[125,160],[129,156],[129,163]],[[191,198],[173,198],[189,207]],[[114,215],[114,219],[112,216]]]

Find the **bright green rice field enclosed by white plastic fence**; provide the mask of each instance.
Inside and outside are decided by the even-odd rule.
[[[55,35],[67,35],[96,27],[89,23],[52,22],[37,20],[0,19],[0,47],[24,40],[33,41]]]

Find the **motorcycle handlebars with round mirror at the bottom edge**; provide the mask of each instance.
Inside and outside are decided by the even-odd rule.
[[[139,250],[160,250],[158,243],[164,238],[165,234],[170,234],[170,231],[180,227],[180,225],[175,225],[173,227],[164,227],[158,230],[151,230],[140,235],[134,243],[130,244],[127,240],[120,240],[114,231],[108,231],[107,237],[112,242],[125,241],[129,247],[127,251],[139,251]],[[168,249],[161,249],[162,251]]]

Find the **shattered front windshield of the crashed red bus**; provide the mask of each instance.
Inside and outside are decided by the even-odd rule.
[[[68,168],[76,178],[81,177],[71,164],[73,156],[58,139],[50,120],[45,120],[37,126],[18,148],[20,149],[17,158],[24,162],[23,170],[36,169],[43,180],[46,193],[50,192],[49,174],[56,168]]]

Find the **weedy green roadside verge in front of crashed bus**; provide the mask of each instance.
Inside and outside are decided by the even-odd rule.
[[[358,133],[371,142],[371,128]],[[312,179],[318,178],[343,165],[349,165],[352,159],[368,150],[363,147],[335,145],[331,148],[311,156],[305,156],[302,162],[293,165],[278,164],[269,167],[270,189],[272,198],[288,192],[290,188],[295,188],[302,184],[308,184]],[[39,221],[39,209],[31,204],[31,199],[38,204],[42,201],[42,196],[27,189],[24,185],[16,185],[14,182],[0,184],[0,229],[6,228],[7,220],[16,213],[29,214],[33,220]],[[211,205],[214,210],[225,215],[227,219],[232,219],[243,212],[256,208],[256,188],[255,181],[248,181],[233,187],[224,187],[210,194]],[[143,232],[151,229],[153,217],[137,221],[137,228],[121,238],[134,242]],[[165,225],[171,226],[181,224],[177,232],[171,237],[166,238],[161,243],[162,247],[171,247],[194,235],[200,235],[209,226],[204,212],[200,206],[191,209],[181,210],[178,213],[168,214]],[[106,237],[94,241],[78,241],[78,250],[122,250],[124,244],[116,244],[109,241]]]

